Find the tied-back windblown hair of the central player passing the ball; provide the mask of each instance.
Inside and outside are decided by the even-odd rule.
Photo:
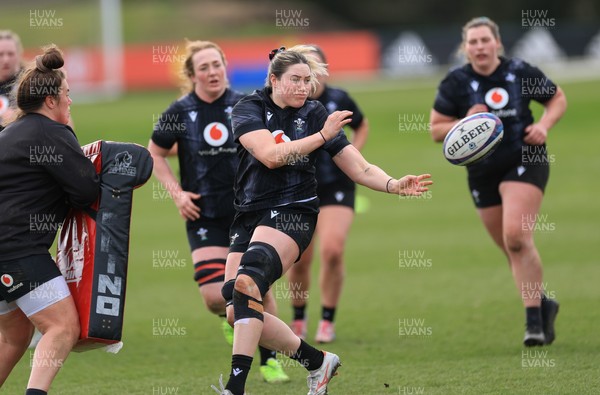
[[[318,75],[328,75],[327,64],[321,63],[312,54],[317,52],[315,47],[310,45],[295,45],[285,49],[281,47],[278,50],[273,50],[270,56],[269,70],[265,80],[265,86],[272,88],[271,75],[274,75],[278,80],[288,70],[290,66],[295,64],[306,64],[310,69],[310,84],[314,90],[317,85]]]

